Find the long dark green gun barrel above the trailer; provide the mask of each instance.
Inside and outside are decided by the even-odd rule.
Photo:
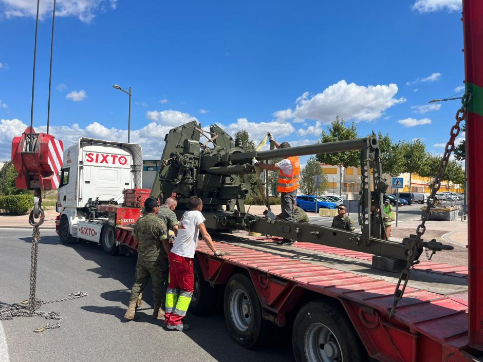
[[[362,149],[367,146],[374,148],[378,146],[378,143],[379,142],[375,136],[367,136],[364,138],[356,138],[354,140],[316,143],[305,146],[271,149],[268,151],[251,151],[247,153],[231,155],[230,160],[237,161],[252,157],[255,157],[257,160],[271,160],[277,157],[330,154],[333,152]]]

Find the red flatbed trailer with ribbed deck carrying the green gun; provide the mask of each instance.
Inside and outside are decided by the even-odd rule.
[[[370,254],[307,242],[280,246],[278,238],[244,231],[216,234],[213,240],[230,255],[215,257],[199,240],[190,311],[209,315],[222,302],[230,333],[245,347],[264,344],[281,327],[291,331],[298,361],[326,361],[321,351],[330,361],[477,360],[468,353],[464,266],[416,265],[389,319],[399,273],[373,269]],[[116,227],[116,241],[136,250],[131,226]],[[324,333],[331,340],[317,340]]]

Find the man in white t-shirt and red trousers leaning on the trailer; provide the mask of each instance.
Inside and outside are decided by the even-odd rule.
[[[203,203],[197,196],[188,202],[190,211],[184,212],[179,220],[178,235],[169,253],[170,283],[166,290],[166,311],[164,322],[166,329],[171,331],[187,331],[190,326],[182,323],[188,311],[194,291],[195,276],[193,272],[193,257],[195,256],[198,235],[205,240],[215,256],[227,255],[216,250],[205,226],[205,217],[201,214]]]

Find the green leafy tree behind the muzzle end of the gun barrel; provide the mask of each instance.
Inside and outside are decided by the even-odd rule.
[[[335,142],[344,140],[353,140],[357,138],[357,127],[354,122],[351,125],[347,125],[344,119],[339,119],[339,116],[330,123],[328,131],[322,131],[321,142]],[[339,169],[342,167],[357,167],[360,164],[361,154],[358,150],[344,151],[331,154],[318,154],[317,161],[338,166]],[[342,173],[340,173],[340,189],[339,192],[342,194]]]

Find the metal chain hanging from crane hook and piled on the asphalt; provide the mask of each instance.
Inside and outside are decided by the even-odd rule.
[[[38,194],[37,192],[35,193]],[[85,297],[87,295],[86,292],[76,291],[70,293],[67,298],[50,300],[44,302],[42,299],[35,298],[36,292],[36,280],[37,280],[37,259],[38,259],[38,251],[39,251],[39,242],[41,240],[40,237],[40,229],[39,226],[42,225],[44,222],[44,210],[41,207],[42,198],[39,196],[39,199],[35,200],[34,208],[30,212],[29,215],[29,223],[33,226],[32,231],[32,247],[30,253],[30,296],[29,299],[22,300],[20,303],[12,304],[11,306],[4,307],[0,309],[0,320],[8,320],[13,319],[13,317],[43,317],[45,319],[54,319],[58,320],[57,323],[50,324],[47,323],[46,326],[41,328],[36,328],[34,332],[43,332],[46,329],[55,329],[61,326],[62,317],[58,312],[44,312],[44,311],[37,311],[43,304],[50,304],[59,301],[65,301],[70,299],[77,299],[81,297]],[[39,217],[39,221],[35,221],[34,217]]]

